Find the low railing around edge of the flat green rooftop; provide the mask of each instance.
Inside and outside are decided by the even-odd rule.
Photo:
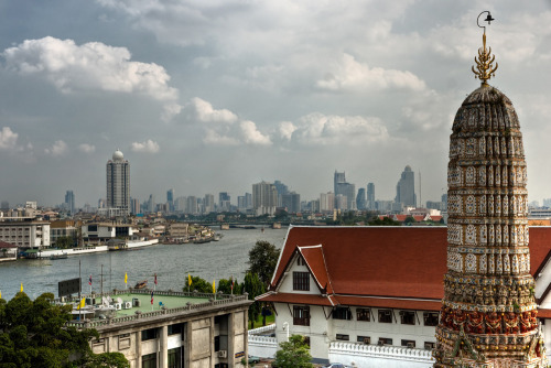
[[[143,290],[133,290],[132,293],[134,293],[134,294],[149,294],[150,292],[143,291]],[[128,291],[117,291],[115,293],[111,293],[111,295],[119,295],[119,294],[128,294]],[[173,292],[173,291],[159,291],[159,292],[155,292],[155,294],[156,295],[168,295],[168,296],[190,296],[190,297],[208,297],[208,296],[212,297],[213,296],[213,294],[184,293],[184,292]],[[247,301],[247,299],[248,299],[247,295],[234,295],[234,296],[222,295],[222,296],[217,296],[217,297],[224,297],[224,299],[220,299],[220,300],[212,299],[210,301],[208,301],[206,303],[188,304],[185,306],[179,306],[179,307],[166,309],[166,310],[161,310],[161,311],[141,312],[141,313],[138,313],[134,315],[127,315],[127,316],[115,317],[115,318],[107,318],[107,320],[99,320],[99,321],[85,321],[85,322],[71,321],[67,323],[67,326],[96,328],[96,327],[101,327],[101,326],[133,322],[133,321],[138,321],[138,320],[143,320],[143,318],[158,317],[158,316],[162,316],[162,315],[194,312],[194,311],[203,310],[203,309],[204,310],[212,309],[213,306],[241,303],[244,301]]]

